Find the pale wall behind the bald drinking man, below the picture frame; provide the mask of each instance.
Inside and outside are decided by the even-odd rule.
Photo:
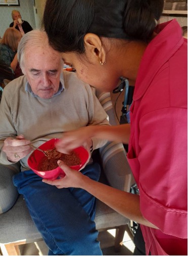
[[[22,16],[23,20],[29,22],[32,28],[36,28],[34,11],[33,11],[33,1],[32,0],[20,0],[20,6],[0,6],[0,36],[3,37],[5,30],[9,27],[12,19],[12,11],[18,10]]]

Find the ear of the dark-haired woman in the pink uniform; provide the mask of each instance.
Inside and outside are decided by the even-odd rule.
[[[101,38],[93,33],[84,36],[84,46],[87,57],[92,61],[102,63],[106,60],[106,52],[102,46]]]

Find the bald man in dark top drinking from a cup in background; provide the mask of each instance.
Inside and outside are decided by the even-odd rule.
[[[27,22],[26,20],[22,20],[22,17],[19,11],[13,10],[12,18],[13,18],[13,22],[10,24],[9,27],[18,29],[22,33],[22,35],[33,30],[29,22]]]

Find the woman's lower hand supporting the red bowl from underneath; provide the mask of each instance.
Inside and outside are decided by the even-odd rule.
[[[84,185],[84,180],[88,179],[88,177],[84,176],[77,170],[71,169],[61,160],[58,160],[58,165],[62,168],[62,170],[64,170],[65,177],[54,181],[43,179],[42,182],[56,186],[57,188],[82,188]]]

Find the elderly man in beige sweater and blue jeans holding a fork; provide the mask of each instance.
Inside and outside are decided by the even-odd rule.
[[[58,189],[43,183],[29,169],[27,159],[32,151],[29,143],[38,147],[72,129],[109,125],[108,116],[88,84],[73,72],[65,71],[62,76],[61,55],[49,46],[44,31],[32,30],[22,37],[18,58],[24,75],[5,87],[0,106],[0,175],[20,161],[21,172],[13,182],[24,195],[50,255],[100,255],[93,221],[95,198],[82,189]],[[83,146],[90,154],[91,148],[105,143],[88,139]],[[81,172],[98,181],[100,166],[90,162]],[[1,198],[3,194],[0,191]]]

